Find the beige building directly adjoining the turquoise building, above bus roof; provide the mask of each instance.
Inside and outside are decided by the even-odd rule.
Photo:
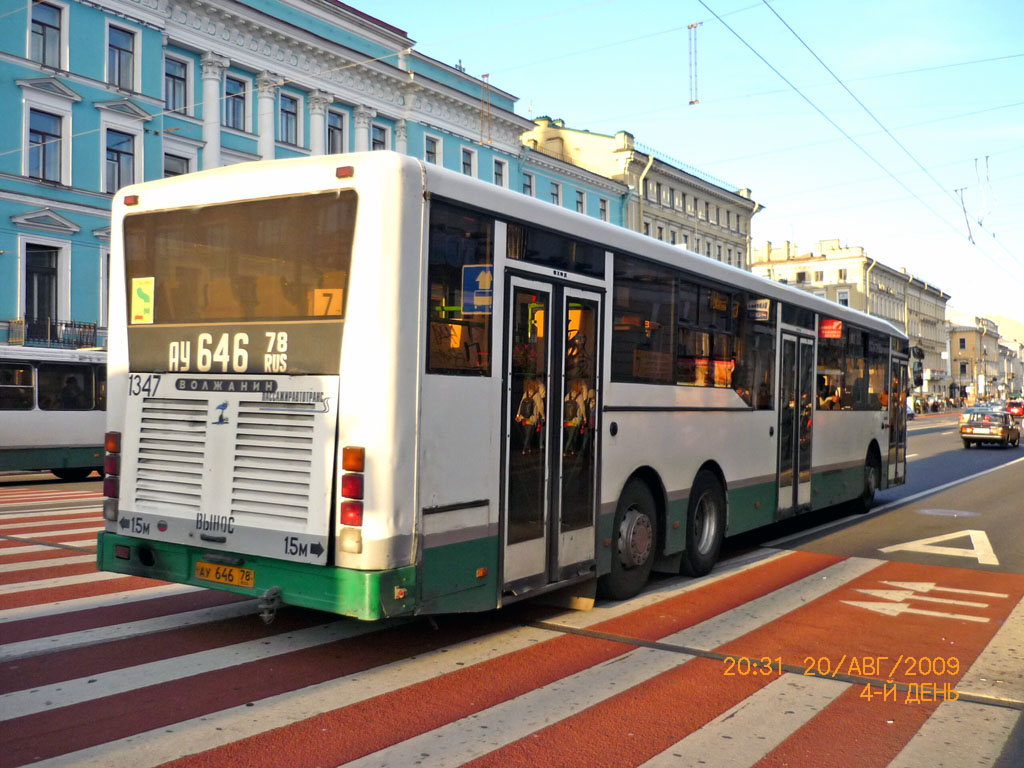
[[[527,151],[558,158],[627,184],[626,227],[743,269],[750,268],[751,217],[762,206],[750,189],[656,157],[631,133],[614,136],[540,118],[522,134]]]

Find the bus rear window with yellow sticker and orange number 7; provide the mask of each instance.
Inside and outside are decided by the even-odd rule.
[[[125,217],[129,325],[343,319],[355,209],[338,190]]]

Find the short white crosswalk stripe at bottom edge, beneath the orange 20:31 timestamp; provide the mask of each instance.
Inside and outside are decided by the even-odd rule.
[[[821,678],[784,675],[651,758],[641,768],[753,766],[848,687]]]

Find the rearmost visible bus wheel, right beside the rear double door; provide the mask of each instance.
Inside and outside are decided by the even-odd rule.
[[[654,562],[656,520],[650,488],[640,480],[630,480],[615,508],[611,572],[597,583],[601,597],[626,600],[647,584]]]

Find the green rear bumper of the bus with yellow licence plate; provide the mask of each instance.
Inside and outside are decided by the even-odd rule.
[[[412,615],[417,608],[416,566],[391,570],[352,570],[329,565],[274,560],[252,555],[209,552],[197,547],[169,544],[102,531],[96,541],[99,570],[157,579],[176,584],[262,597],[281,590],[288,605],[299,605],[361,620]],[[197,577],[197,563],[216,560],[217,575],[248,581],[226,584]],[[250,571],[250,573],[245,573]]]

